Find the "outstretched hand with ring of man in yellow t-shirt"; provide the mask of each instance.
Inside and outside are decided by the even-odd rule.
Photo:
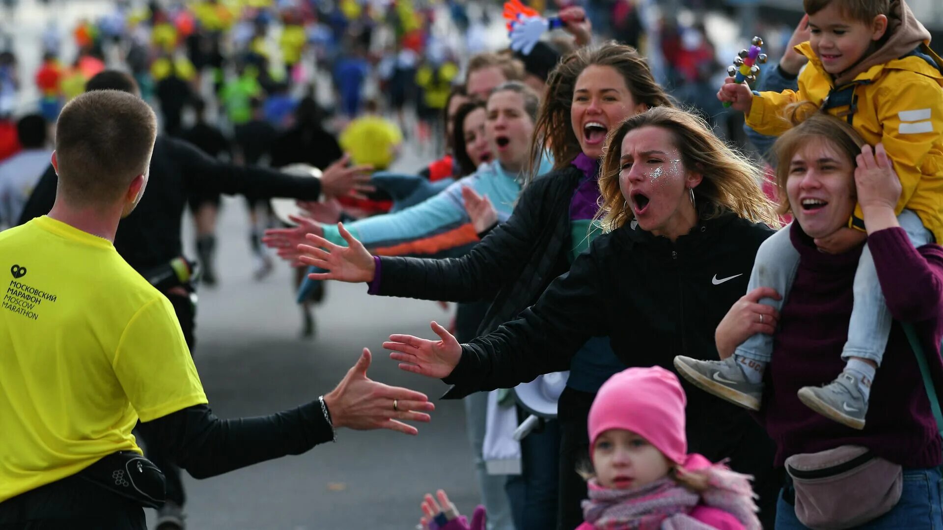
[[[416,427],[404,422],[429,422],[429,415],[420,411],[432,411],[436,406],[422,392],[390,387],[367,377],[370,361],[370,350],[364,348],[338,387],[324,395],[324,405],[331,414],[334,427],[357,431],[389,429],[407,435],[418,434]]]

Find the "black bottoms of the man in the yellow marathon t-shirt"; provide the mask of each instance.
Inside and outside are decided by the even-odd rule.
[[[70,476],[0,503],[0,530],[147,530],[144,509]]]

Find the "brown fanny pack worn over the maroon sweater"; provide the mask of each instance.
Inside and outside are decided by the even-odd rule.
[[[835,449],[786,458],[796,490],[796,517],[809,528],[852,528],[897,505],[903,469],[865,447]]]

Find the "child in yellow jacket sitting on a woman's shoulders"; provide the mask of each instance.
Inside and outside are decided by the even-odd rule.
[[[809,58],[799,75],[799,91],[753,92],[728,77],[718,98],[744,112],[747,124],[765,135],[785,132],[790,127],[786,108],[802,101],[847,120],[869,144],[884,144],[901,179],[896,213],[914,245],[943,241],[943,63],[927,45],[930,33],[903,0],[803,0],[803,5],[811,36],[796,46]],[[821,207],[821,201],[802,202],[792,207]],[[836,233],[832,244],[865,240],[862,218],[858,205],[850,229]],[[760,246],[749,290],[771,287],[785,299],[799,262],[788,232],[780,230]],[[827,247],[829,239],[833,236],[816,242]],[[783,300],[766,298],[762,303],[778,311]],[[800,389],[802,403],[836,422],[863,429],[871,381],[890,327],[866,245],[854,278],[854,307],[842,351],[845,370],[829,385]],[[758,409],[771,354],[772,338],[756,334],[726,360],[679,356],[675,366],[699,387]]]

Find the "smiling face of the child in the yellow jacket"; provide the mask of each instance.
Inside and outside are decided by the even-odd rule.
[[[832,2],[814,15],[809,15],[809,42],[819,56],[825,72],[836,75],[851,68],[865,57],[872,41],[885,34],[887,17],[878,15],[871,24],[853,20]]]

